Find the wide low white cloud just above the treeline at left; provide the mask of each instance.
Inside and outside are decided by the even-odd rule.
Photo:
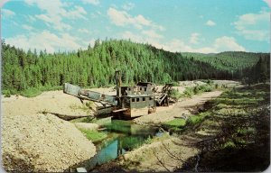
[[[79,45],[80,39],[70,36],[68,33],[61,33],[60,36],[49,31],[31,32],[29,36],[17,35],[12,38],[6,38],[5,41],[11,45],[16,45],[23,50],[36,49],[47,52],[56,52],[58,50],[77,50],[85,45]]]

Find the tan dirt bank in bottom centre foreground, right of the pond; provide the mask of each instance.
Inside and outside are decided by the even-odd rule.
[[[145,144],[137,150],[126,153],[119,164],[129,170],[173,171],[176,166],[182,167],[187,159],[197,155],[199,150],[187,145],[187,141],[170,137],[163,141]]]

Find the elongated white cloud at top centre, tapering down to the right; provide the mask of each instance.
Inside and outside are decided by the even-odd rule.
[[[161,31],[164,30],[163,26],[156,25],[152,21],[145,19],[145,17],[141,14],[133,17],[130,14],[127,14],[126,11],[117,11],[115,8],[110,7],[107,10],[107,15],[109,16],[111,22],[117,26],[133,25],[137,29],[143,29],[143,26],[148,26]]]

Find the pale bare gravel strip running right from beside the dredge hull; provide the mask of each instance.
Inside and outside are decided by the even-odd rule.
[[[170,107],[158,107],[154,114],[138,117],[134,122],[139,124],[159,124],[171,121],[174,117],[181,117],[183,114],[189,116],[197,112],[205,102],[213,97],[220,96],[221,93],[221,91],[212,91],[183,99]]]

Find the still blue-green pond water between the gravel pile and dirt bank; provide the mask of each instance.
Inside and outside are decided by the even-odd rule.
[[[97,154],[86,161],[83,167],[91,170],[119,155],[142,145],[147,139],[162,135],[157,128],[138,125],[131,121],[112,120],[104,124],[107,139],[96,143]]]

